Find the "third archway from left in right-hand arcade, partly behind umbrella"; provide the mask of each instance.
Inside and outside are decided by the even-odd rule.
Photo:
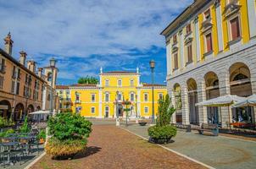
[[[220,96],[219,78],[214,72],[209,72],[204,75],[206,100],[213,99]],[[221,123],[220,107],[207,107],[208,123]]]

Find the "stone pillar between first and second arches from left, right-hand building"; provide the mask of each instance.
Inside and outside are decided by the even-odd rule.
[[[182,105],[182,124],[189,124],[189,110],[188,110],[188,97],[187,87],[181,85],[181,105]]]

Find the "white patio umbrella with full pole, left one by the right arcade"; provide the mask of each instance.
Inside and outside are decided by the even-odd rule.
[[[234,103],[237,103],[238,101],[242,101],[243,99],[245,98],[237,95],[223,95],[223,96],[216,97],[214,99],[199,102],[196,104],[196,106],[228,106],[228,116],[229,116],[229,126],[230,126],[231,115],[230,115],[229,106],[231,106]]]

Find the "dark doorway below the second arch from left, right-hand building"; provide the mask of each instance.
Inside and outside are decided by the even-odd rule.
[[[188,101],[189,101],[189,122],[191,124],[198,124],[199,123],[198,106],[196,106],[196,103],[198,102],[198,92],[193,91],[188,93]]]

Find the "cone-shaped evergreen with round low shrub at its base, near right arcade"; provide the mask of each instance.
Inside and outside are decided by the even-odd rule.
[[[170,143],[171,138],[177,133],[175,126],[170,124],[170,117],[175,112],[175,108],[170,106],[170,96],[166,95],[165,98],[159,100],[159,111],[157,115],[157,123],[147,129],[150,136],[149,141],[157,144]]]

